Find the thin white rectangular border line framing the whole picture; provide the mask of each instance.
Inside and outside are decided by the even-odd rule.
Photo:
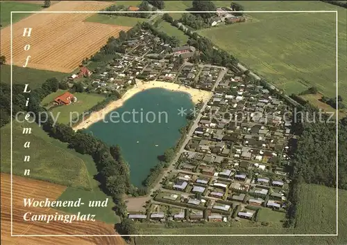
[[[336,124],[336,234],[221,234],[221,235],[212,235],[212,234],[201,234],[201,235],[190,235],[190,234],[184,234],[184,235],[167,235],[167,234],[162,234],[162,235],[115,235],[115,234],[111,234],[111,235],[13,235],[13,217],[12,217],[12,211],[13,211],[13,203],[12,203],[12,197],[13,197],[13,193],[12,193],[12,145],[13,145],[13,139],[12,139],[12,78],[13,78],[13,70],[12,70],[12,66],[13,66],[13,60],[12,60],[12,32],[13,32],[13,28],[12,28],[12,13],[108,13],[108,12],[132,12],[132,11],[11,11],[11,16],[10,16],[10,33],[11,33],[11,39],[10,39],[10,54],[11,54],[11,64],[10,64],[10,91],[11,91],[11,111],[10,111],[10,115],[11,115],[11,133],[10,133],[10,161],[11,161],[11,170],[10,170],[10,174],[11,174],[11,237],[337,237],[339,235],[339,123]],[[175,12],[175,13],[184,13],[187,11],[137,11],[137,12],[163,12],[163,13],[170,13],[170,12]],[[217,12],[217,11],[189,11],[189,12]],[[337,10],[279,10],[279,11],[228,11],[228,12],[262,12],[262,13],[267,13],[267,12],[335,12],[335,17],[336,17],[336,96],[338,95],[338,78],[339,78],[339,46],[338,46],[338,12]],[[337,122],[339,121],[339,110],[338,108],[338,102],[336,103],[336,120]]]

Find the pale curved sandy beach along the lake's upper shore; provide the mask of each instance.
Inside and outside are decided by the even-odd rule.
[[[201,100],[203,102],[206,102],[207,100],[210,100],[212,96],[212,92],[210,91],[192,89],[180,84],[174,84],[172,82],[137,81],[137,83],[135,84],[135,87],[126,91],[126,93],[124,93],[121,99],[110,102],[110,104],[108,104],[105,108],[101,109],[100,111],[93,112],[92,114],[90,114],[89,118],[87,118],[86,120],[83,120],[81,123],[79,123],[75,127],[72,127],[72,129],[74,129],[75,131],[78,129],[85,129],[89,127],[90,125],[92,125],[93,123],[96,123],[99,120],[103,120],[103,118],[105,118],[107,114],[121,107],[124,104],[124,102],[126,102],[126,100],[135,96],[135,94],[142,92],[146,89],[153,89],[153,88],[169,89],[171,91],[180,91],[180,92],[189,93],[189,96],[194,104],[197,104]]]

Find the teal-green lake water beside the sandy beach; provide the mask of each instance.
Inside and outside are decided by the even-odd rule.
[[[151,167],[159,163],[157,157],[169,147],[174,147],[180,139],[179,129],[187,125],[185,116],[178,115],[181,107],[187,109],[187,113],[194,107],[188,93],[148,89],[137,93],[115,110],[119,122],[113,112],[114,123],[106,123],[110,121],[111,112],[104,121],[94,123],[86,131],[108,145],[121,146],[122,154],[130,165],[131,183],[140,186]],[[138,114],[127,113],[133,110]],[[124,120],[121,120],[122,115]]]

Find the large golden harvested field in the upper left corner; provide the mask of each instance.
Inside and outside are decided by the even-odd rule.
[[[94,13],[48,13],[51,11],[99,11],[111,2],[61,1],[12,25],[13,64],[69,73],[85,57],[94,55],[111,36],[118,37],[128,26],[106,25],[84,21]],[[13,13],[13,15],[20,15]],[[31,37],[23,37],[24,28],[32,28]],[[31,45],[28,51],[26,44]],[[1,30],[1,55],[10,60],[10,26]]]

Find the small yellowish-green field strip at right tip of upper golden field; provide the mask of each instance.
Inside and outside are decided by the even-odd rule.
[[[96,14],[92,15],[85,19],[85,21],[97,22],[101,24],[112,24],[117,26],[135,26],[138,22],[148,21],[149,19],[145,18],[135,18],[128,16],[110,16],[110,15],[101,15]]]

